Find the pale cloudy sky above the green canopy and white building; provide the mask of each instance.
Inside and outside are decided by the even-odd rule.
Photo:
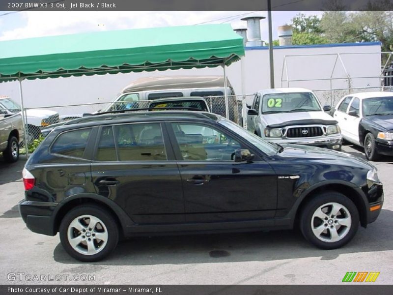
[[[267,17],[267,11],[22,11],[2,15],[0,40],[21,39],[79,32],[141,29],[167,26],[230,23],[233,29],[246,28],[245,16]],[[273,11],[273,39],[277,27],[288,24],[298,13],[321,16],[321,11]],[[262,40],[268,40],[268,23],[261,21]]]

